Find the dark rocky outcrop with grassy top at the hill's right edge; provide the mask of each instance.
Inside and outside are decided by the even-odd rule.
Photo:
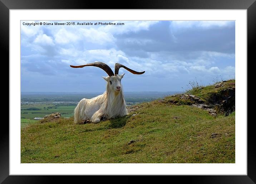
[[[222,81],[215,85],[195,87],[187,94],[175,94],[158,100],[160,103],[192,105],[205,109],[211,115],[229,114],[235,111],[235,80]]]

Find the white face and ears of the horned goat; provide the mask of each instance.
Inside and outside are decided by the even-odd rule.
[[[115,92],[122,91],[121,79],[123,78],[124,74],[122,75],[115,75],[111,77],[103,77],[105,81],[107,81],[108,89]]]

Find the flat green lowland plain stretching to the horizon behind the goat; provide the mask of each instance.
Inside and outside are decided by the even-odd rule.
[[[150,102],[180,92],[125,92],[127,106]],[[82,98],[93,98],[102,93],[21,92],[21,127],[25,127],[47,114],[60,112],[72,117],[74,108]]]

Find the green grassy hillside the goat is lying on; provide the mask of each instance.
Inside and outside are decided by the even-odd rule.
[[[227,83],[235,85],[188,93],[209,105],[207,96]],[[235,163],[235,112],[212,116],[183,100],[142,103],[97,124],[74,124],[73,117],[36,122],[21,128],[21,163]]]

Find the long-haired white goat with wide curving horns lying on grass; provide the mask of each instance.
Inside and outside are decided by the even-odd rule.
[[[109,75],[108,77],[103,77],[104,80],[107,81],[106,91],[103,94],[91,99],[83,98],[78,103],[74,110],[74,122],[76,124],[84,123],[86,121],[98,123],[103,117],[110,119],[128,114],[121,84],[121,79],[124,74],[118,75],[119,68],[123,67],[129,72],[138,75],[143,74],[145,71],[136,72],[119,63],[115,63],[115,74],[107,64],[102,62],[94,62],[81,66],[70,66],[73,68],[96,66],[102,68]]]

